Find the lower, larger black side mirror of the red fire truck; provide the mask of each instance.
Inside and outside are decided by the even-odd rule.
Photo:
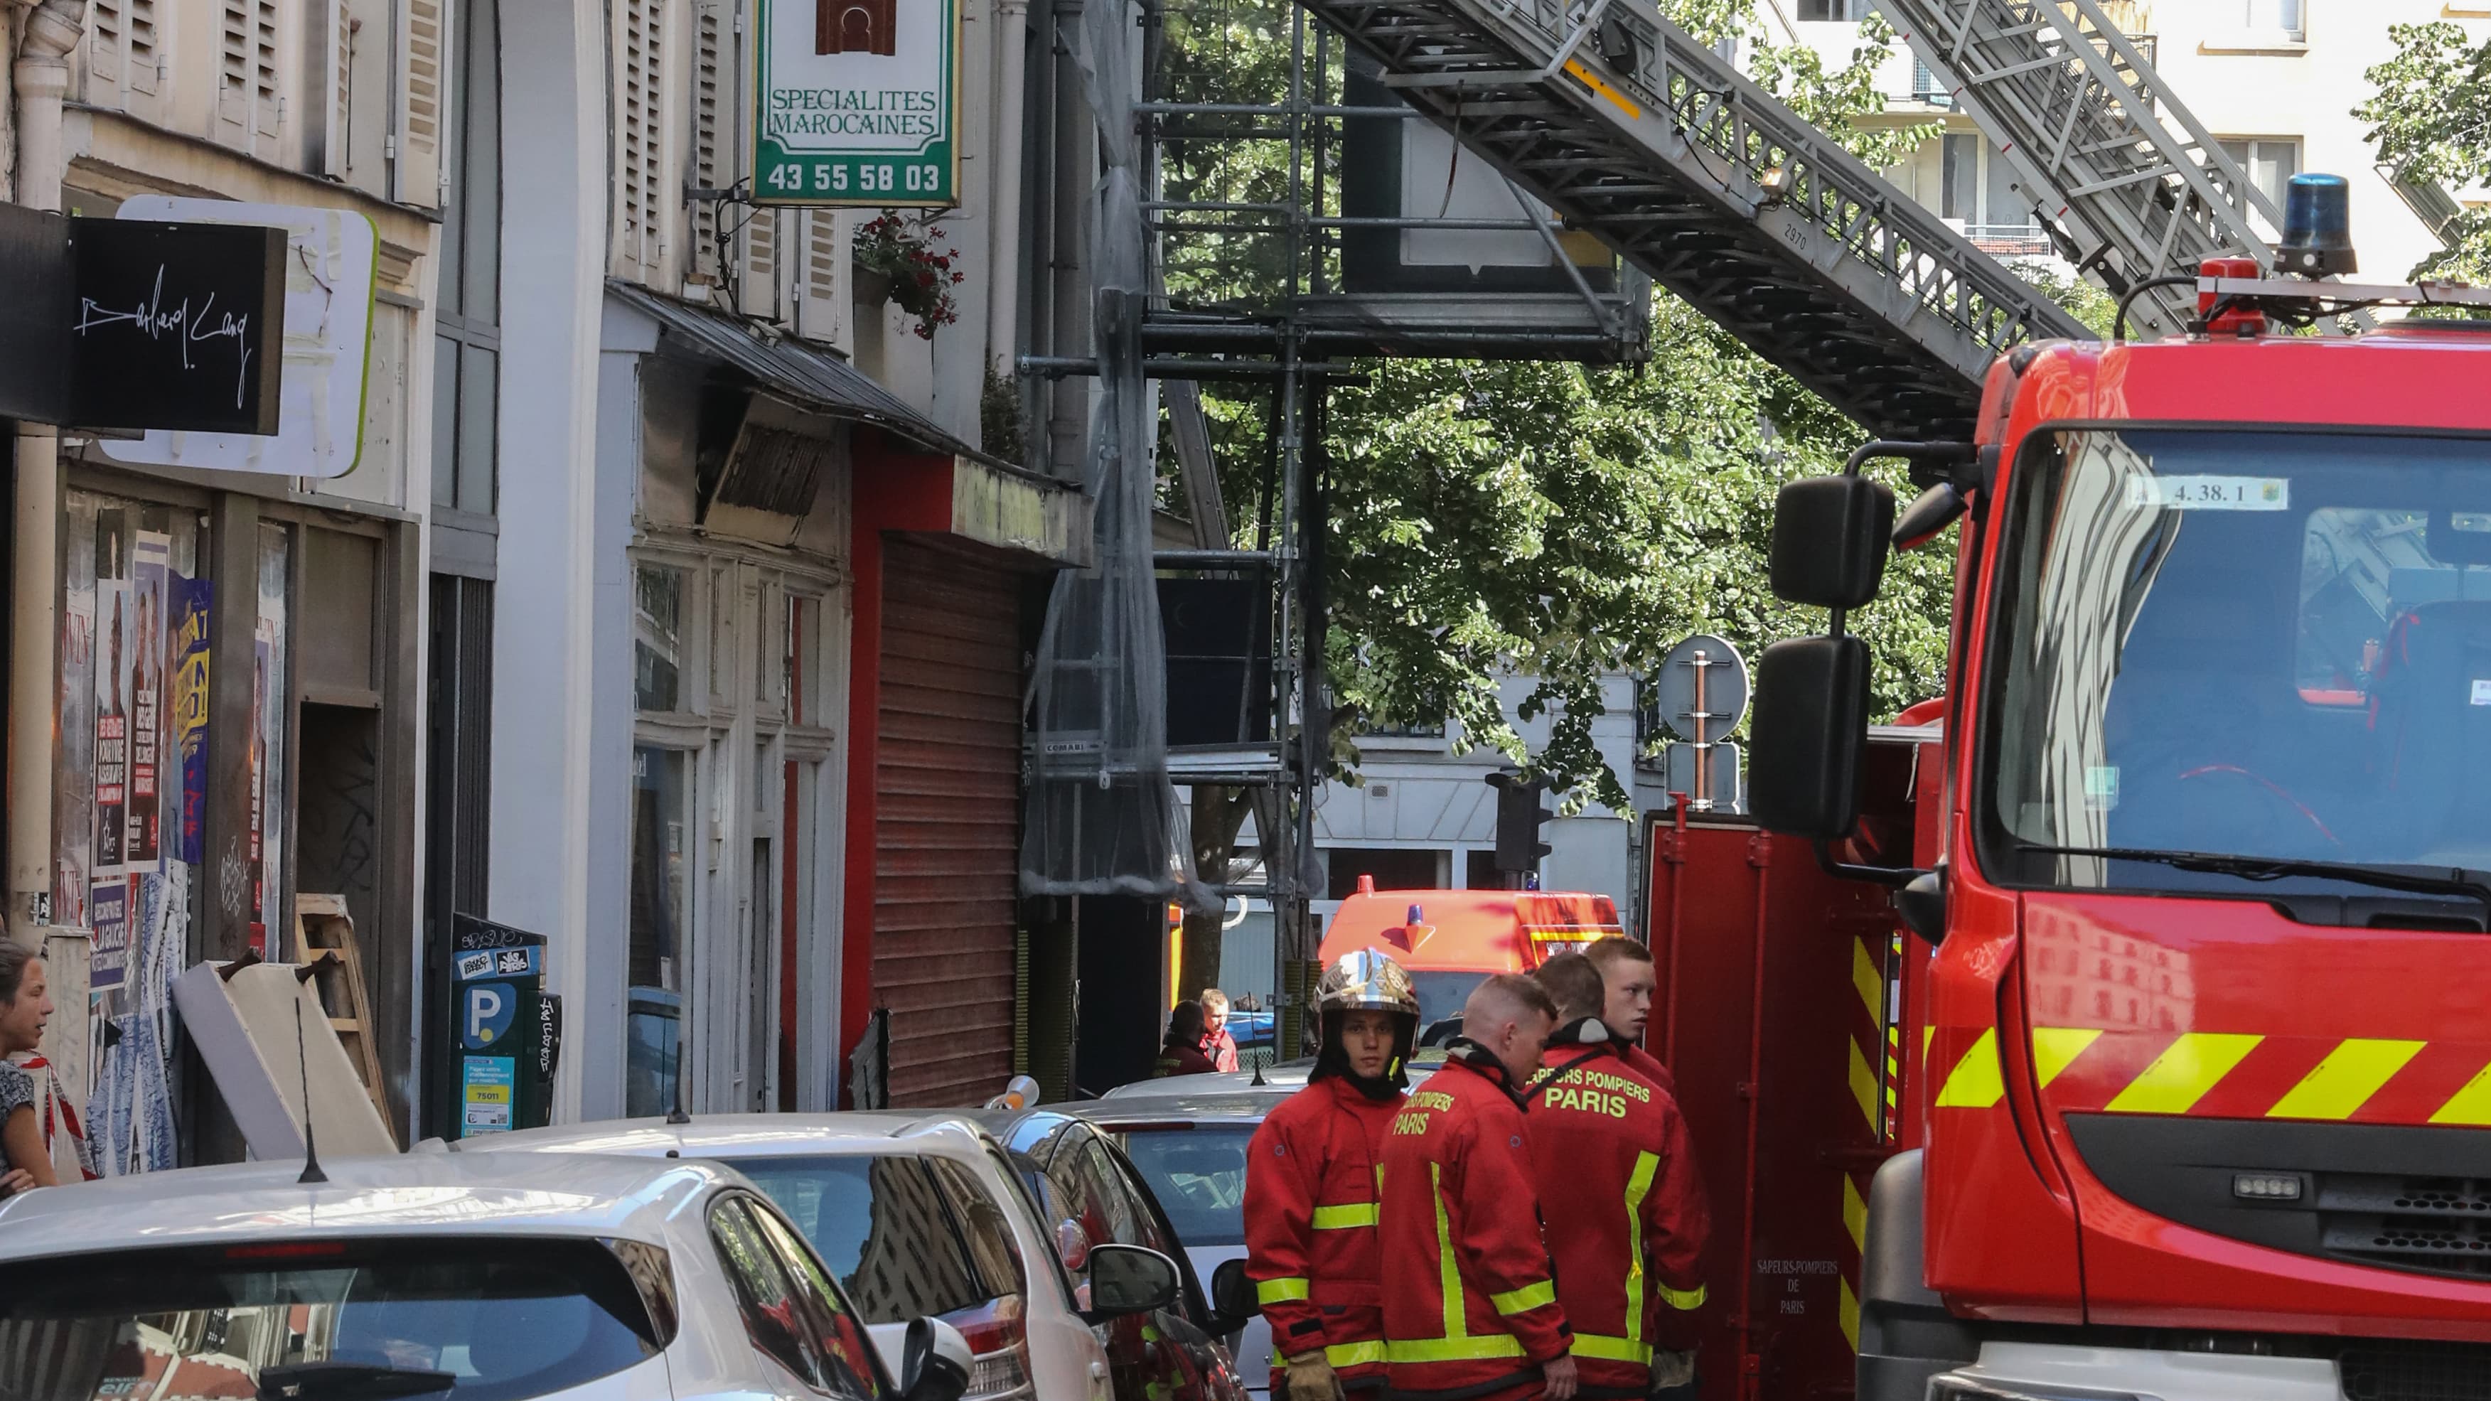
[[[1868,748],[1868,643],[1836,636],[1764,648],[1749,725],[1749,813],[1794,838],[1851,835]]]

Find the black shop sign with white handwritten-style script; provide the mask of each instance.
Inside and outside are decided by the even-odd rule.
[[[274,434],[286,232],[0,217],[0,416]]]

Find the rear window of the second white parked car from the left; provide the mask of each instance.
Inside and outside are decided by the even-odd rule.
[[[989,1286],[934,1174],[914,1157],[740,1157],[752,1179],[869,1324],[976,1309],[1014,1286]]]

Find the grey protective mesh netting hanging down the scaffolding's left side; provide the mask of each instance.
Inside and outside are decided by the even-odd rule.
[[[1099,401],[1084,491],[1096,561],[1056,576],[1031,676],[1024,895],[1188,895],[1186,810],[1168,785],[1168,671],[1151,571],[1153,401],[1141,376],[1143,257],[1133,35],[1121,2],[1081,7],[1081,65],[1104,172],[1089,219]]]

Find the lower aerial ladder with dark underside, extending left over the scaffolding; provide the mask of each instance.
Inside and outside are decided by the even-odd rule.
[[[1968,436],[2085,327],[1649,0],[1303,0],[1385,82],[1878,436]]]

